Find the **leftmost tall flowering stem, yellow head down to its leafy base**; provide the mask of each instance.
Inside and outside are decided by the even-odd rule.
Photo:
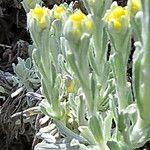
[[[28,13],[28,28],[35,45],[33,60],[41,74],[42,92],[51,105],[49,107],[51,116],[61,118],[63,107],[60,107],[58,87],[58,83],[61,83],[61,80],[54,64],[57,63],[57,60],[52,61],[52,59],[55,59],[54,55],[56,53],[50,51],[51,49],[54,51],[50,47],[51,40],[49,40],[51,32],[53,32],[51,31],[51,24],[52,19],[50,18],[50,11],[47,8],[37,5],[35,9]],[[57,52],[57,50],[55,51]]]

